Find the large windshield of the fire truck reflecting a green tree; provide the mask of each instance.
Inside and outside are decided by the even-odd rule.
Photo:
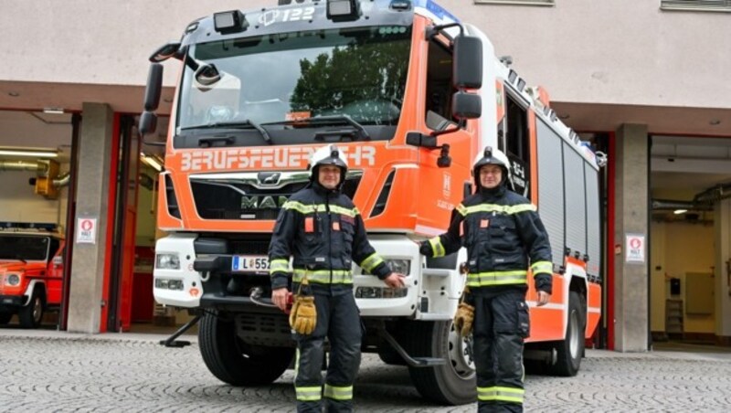
[[[193,45],[180,88],[175,146],[199,146],[190,138],[209,135],[215,125],[233,138],[251,137],[229,145],[262,142],[256,130],[223,126],[237,122],[261,125],[275,144],[313,143],[313,129],[332,125],[291,121],[342,115],[372,139],[390,139],[401,113],[410,40],[408,26],[374,26]],[[211,65],[219,79],[196,79],[196,69]]]

